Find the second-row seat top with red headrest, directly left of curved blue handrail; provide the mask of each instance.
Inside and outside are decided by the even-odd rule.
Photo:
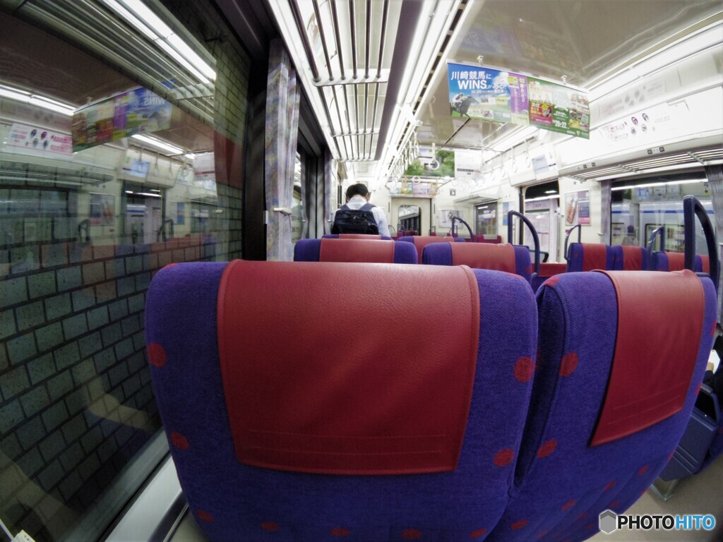
[[[526,246],[483,243],[434,243],[424,247],[422,263],[430,265],[466,265],[520,275],[531,283],[532,264]]]

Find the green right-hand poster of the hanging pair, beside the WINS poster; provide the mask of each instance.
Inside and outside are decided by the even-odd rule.
[[[528,78],[530,124],[575,137],[590,138],[590,107],[579,90]]]

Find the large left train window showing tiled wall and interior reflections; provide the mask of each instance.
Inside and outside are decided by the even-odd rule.
[[[114,25],[113,58],[137,61],[121,73],[103,47],[22,20],[42,12],[30,4],[0,12],[0,520],[95,540],[168,454],[145,353],[151,278],[241,257],[249,61],[217,44],[202,83],[164,53],[154,64],[154,43],[106,4],[67,4]],[[197,17],[223,25],[214,10],[184,20]]]

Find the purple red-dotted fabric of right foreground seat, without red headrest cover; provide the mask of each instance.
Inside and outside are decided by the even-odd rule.
[[[701,283],[702,331],[697,342],[688,343],[697,358],[690,382],[681,383],[683,408],[645,429],[594,446],[591,439],[606,399],[612,359],[618,355],[616,290],[602,272],[556,275],[542,286],[536,295],[539,359],[530,402],[534,406],[515,470],[516,489],[487,540],[585,540],[598,531],[601,512],[612,509],[621,514],[646,491],[683,435],[710,352],[716,294],[709,279]],[[667,302],[668,294],[659,294],[661,303]],[[643,345],[648,347],[655,345]],[[690,362],[692,367],[692,358]]]

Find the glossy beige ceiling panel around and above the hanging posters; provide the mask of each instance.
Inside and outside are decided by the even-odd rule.
[[[449,61],[507,69],[587,89],[633,61],[633,54],[651,51],[676,33],[695,30],[697,23],[720,12],[721,4],[486,0],[467,9],[469,14],[448,51]],[[416,132],[420,144],[494,147],[495,139],[515,129],[510,124],[450,117],[448,95],[447,79],[436,77],[417,113],[423,123]]]

